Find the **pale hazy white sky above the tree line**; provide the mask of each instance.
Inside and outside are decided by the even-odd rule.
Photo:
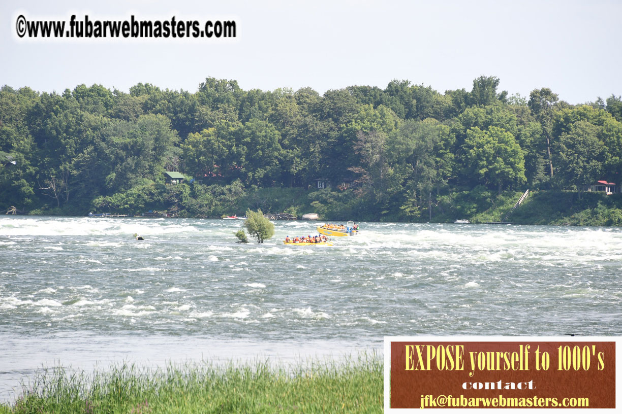
[[[23,40],[16,19],[235,20],[235,40]],[[408,79],[439,92],[480,75],[571,104],[622,95],[622,1],[12,1],[0,5],[0,85],[37,91],[137,83],[194,92],[208,76],[243,89]]]

